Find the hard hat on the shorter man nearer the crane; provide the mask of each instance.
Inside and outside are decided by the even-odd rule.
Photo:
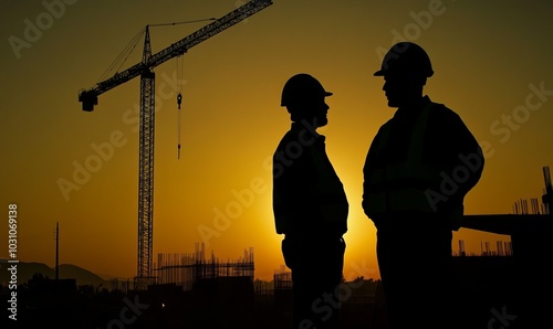
[[[319,97],[331,96],[323,85],[313,76],[306,73],[300,73],[284,84],[280,106],[300,103],[302,100],[316,99]]]

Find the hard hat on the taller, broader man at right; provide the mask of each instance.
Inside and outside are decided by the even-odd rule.
[[[434,75],[430,57],[420,45],[413,42],[396,43],[384,56],[382,67],[375,76],[387,74]]]

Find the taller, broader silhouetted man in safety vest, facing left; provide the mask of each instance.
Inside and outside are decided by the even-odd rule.
[[[452,231],[482,173],[482,150],[459,115],[422,96],[434,71],[419,45],[400,42],[375,76],[394,116],[364,167],[363,209],[377,229],[377,257],[393,328],[457,328]]]

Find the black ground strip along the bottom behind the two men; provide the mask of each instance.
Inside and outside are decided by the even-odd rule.
[[[539,291],[529,291],[529,283],[519,279],[511,263],[509,257],[458,259],[461,278],[458,297],[462,307],[459,321],[465,328],[552,328],[547,319],[553,308],[546,311],[543,307],[551,305],[550,291],[541,291],[535,284],[530,286]],[[388,328],[378,282],[363,280],[362,285],[357,282],[354,288],[344,287],[342,291],[340,328]],[[0,328],[291,329],[290,290],[254,291],[251,280],[239,278],[205,280],[191,291],[173,285],[124,293],[34,283],[18,288],[17,321],[8,318],[11,314],[8,294],[3,287]],[[540,301],[535,296],[549,299]],[[420,303],[425,303],[424,289]],[[540,309],[534,311],[535,308]],[[534,323],[528,325],[532,320]]]

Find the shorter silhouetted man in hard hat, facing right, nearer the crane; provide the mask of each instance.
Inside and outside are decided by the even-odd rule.
[[[296,74],[281,106],[292,126],[273,155],[273,211],[282,254],[292,272],[293,328],[335,328],[347,231],[348,203],[325,151],[328,105],[321,83]]]

